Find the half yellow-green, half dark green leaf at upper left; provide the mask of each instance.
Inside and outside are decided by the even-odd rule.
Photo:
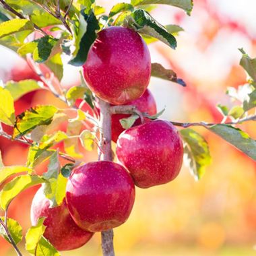
[[[57,41],[58,40],[52,36],[43,36],[42,38],[23,44],[18,49],[18,54],[24,56],[28,53],[33,53],[34,61],[42,63],[49,59],[53,47],[57,44]]]

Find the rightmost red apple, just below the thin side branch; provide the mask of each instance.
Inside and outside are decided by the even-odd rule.
[[[155,120],[121,133],[117,158],[129,170],[137,187],[165,184],[181,170],[183,142],[170,122]]]

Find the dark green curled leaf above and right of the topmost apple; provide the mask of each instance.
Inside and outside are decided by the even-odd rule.
[[[129,16],[128,24],[140,34],[158,38],[172,49],[175,49],[177,46],[177,41],[174,36],[168,33],[164,26],[154,20],[150,13],[143,9],[136,9],[133,11]]]

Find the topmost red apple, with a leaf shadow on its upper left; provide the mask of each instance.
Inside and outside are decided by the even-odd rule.
[[[84,79],[96,96],[111,104],[126,104],[148,87],[150,51],[137,32],[113,26],[98,33],[83,69]]]

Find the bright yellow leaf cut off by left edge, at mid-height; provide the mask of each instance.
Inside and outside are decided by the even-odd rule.
[[[0,122],[13,126],[15,123],[13,98],[8,90],[0,87]]]

